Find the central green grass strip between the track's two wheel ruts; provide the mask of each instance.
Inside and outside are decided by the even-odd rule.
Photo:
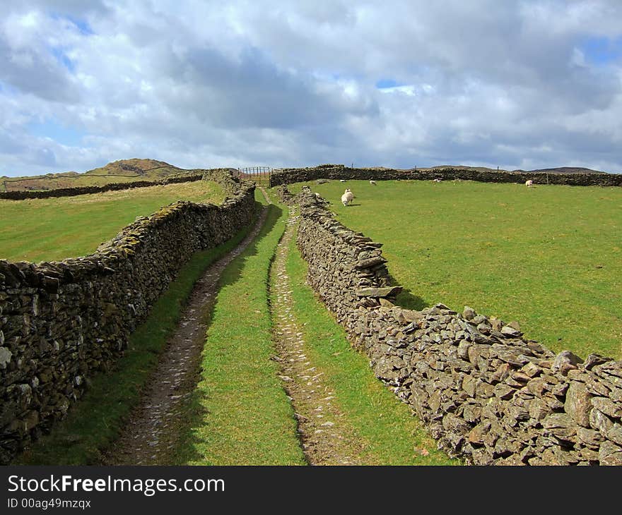
[[[269,266],[286,213],[268,207],[257,239],[225,269],[186,406],[178,464],[304,465],[293,410],[271,360]]]

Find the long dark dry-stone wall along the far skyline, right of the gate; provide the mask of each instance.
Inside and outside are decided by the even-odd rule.
[[[284,168],[274,170],[270,186],[315,181],[319,178],[335,180],[431,181],[480,181],[494,183],[524,183],[528,179],[534,184],[565,184],[568,186],[622,186],[622,174],[545,174],[513,171],[478,171],[474,169],[447,168],[442,170],[396,170],[389,168],[348,168],[339,164],[327,164],[312,168]]]

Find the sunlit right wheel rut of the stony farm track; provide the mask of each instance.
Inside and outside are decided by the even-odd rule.
[[[271,267],[271,314],[280,378],[295,412],[298,435],[310,465],[370,465],[360,458],[365,443],[348,425],[334,402],[335,392],[309,358],[308,343],[293,314],[292,286],[286,270],[288,249],[297,224],[291,208],[285,233]]]

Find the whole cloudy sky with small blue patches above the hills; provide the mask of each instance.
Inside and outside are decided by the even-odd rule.
[[[620,0],[22,0],[0,175],[116,159],[622,172]]]

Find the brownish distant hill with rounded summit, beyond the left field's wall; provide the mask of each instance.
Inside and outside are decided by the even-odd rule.
[[[55,190],[76,186],[103,186],[108,183],[158,181],[184,169],[155,159],[119,159],[79,174],[66,171],[39,176],[1,177],[0,191]]]

